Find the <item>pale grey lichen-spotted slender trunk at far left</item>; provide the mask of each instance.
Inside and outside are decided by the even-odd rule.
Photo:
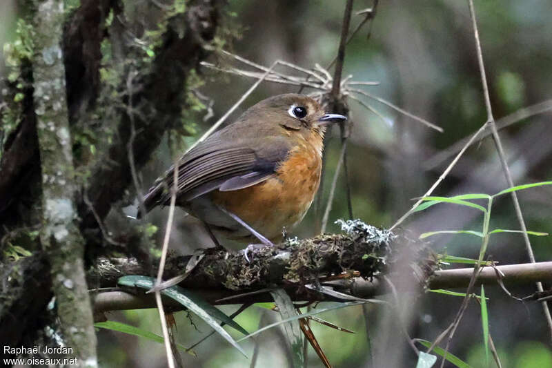
[[[75,205],[78,188],[61,52],[63,1],[44,1],[36,14],[33,97],[42,173],[40,239],[50,262],[61,332],[75,354],[68,358],[77,358],[78,367],[97,367],[96,335],[83,267],[84,240]]]

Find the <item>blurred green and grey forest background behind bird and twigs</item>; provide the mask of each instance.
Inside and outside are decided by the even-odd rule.
[[[226,21],[233,29],[239,29],[240,35],[233,41],[233,52],[264,66],[270,66],[276,59],[304,68],[313,68],[316,63],[327,66],[337,53],[344,4],[345,1],[315,0],[228,1]],[[353,14],[371,6],[371,1],[357,0]],[[10,16],[13,8],[11,1],[0,1],[2,43],[10,39],[14,29]],[[476,1],[475,9],[495,119],[550,99],[552,2]],[[364,15],[353,15],[351,29],[362,19]],[[380,1],[371,22],[371,37],[366,37],[367,25],[346,48],[344,77],[353,75],[357,81],[379,81],[377,86],[362,88],[444,128],[444,133],[438,133],[365,97],[362,100],[382,116],[348,100],[354,124],[348,143],[353,214],[368,224],[390,227],[413,205],[412,199],[423,195],[451,162],[453,156],[443,153],[482,126],[486,111],[466,1]],[[281,70],[297,74],[293,70]],[[190,142],[253,84],[251,79],[205,68],[202,71],[201,77],[206,83],[199,90],[214,101],[214,116],[207,121],[197,119],[197,133],[190,137]],[[333,69],[330,72],[333,73]],[[296,92],[295,87],[261,84],[228,122],[261,99]],[[500,131],[515,184],[552,180],[551,119],[551,112],[542,113]],[[328,133],[326,140],[326,174],[323,191],[319,194],[322,206],[326,206],[341,148],[338,129]],[[170,164],[168,145],[164,144],[142,173],[145,185],[164,173]],[[434,195],[493,194],[506,187],[495,146],[487,137],[466,151]],[[345,188],[344,178],[340,177],[328,232],[339,231],[333,221],[348,217]],[[518,197],[527,228],[552,233],[552,188],[522,191]],[[164,229],[167,212],[156,209],[150,221]],[[315,235],[318,231],[315,213],[315,209],[311,209],[304,222],[290,235]],[[319,209],[317,216],[321,215],[322,209]],[[198,246],[210,244],[201,227],[184,212],[177,211],[175,223],[178,231],[173,231],[171,239],[175,251],[190,253]],[[416,213],[402,224],[415,235],[425,231],[480,230],[481,226],[482,217],[477,211],[445,204]],[[497,227],[519,229],[508,196],[501,197],[493,207],[491,228]],[[158,235],[162,237],[163,231]],[[431,242],[438,253],[469,258],[477,258],[480,248],[477,238],[466,235],[443,235],[431,238]],[[549,237],[531,238],[531,244],[538,261],[552,259]],[[528,262],[522,237],[516,234],[493,236],[487,255],[500,264]],[[509,290],[515,296],[524,297],[533,293],[535,287],[526,285]],[[500,287],[489,287],[486,295],[490,298],[490,333],[503,367],[552,367],[551,336],[540,304],[517,302],[506,296]],[[399,305],[410,336],[433,341],[452,322],[461,302],[462,298],[426,293],[400,296]],[[232,313],[238,307],[221,309]],[[237,322],[248,331],[255,331],[259,325],[275,322],[276,314],[250,307]],[[353,329],[354,335],[316,323],[311,327],[334,367],[413,367],[416,356],[393,316],[379,307],[356,306],[320,316]],[[111,313],[108,317],[161,334],[155,309]],[[210,332],[199,318],[186,316],[185,312],[177,313],[176,318],[177,341],[182,345],[190,346]],[[234,333],[231,329],[228,331]],[[102,367],[166,366],[163,345],[103,330],[98,332],[98,337]],[[259,335],[257,340],[247,340],[243,347],[251,357],[255,345],[258,346],[256,367],[286,367],[288,348],[284,339],[279,329],[271,329]],[[484,367],[482,340],[480,309],[472,302],[455,334],[451,352],[473,367]],[[369,354],[371,349],[375,351],[374,358]],[[197,358],[181,354],[186,367],[250,366],[250,360],[217,334],[195,351]],[[322,367],[310,348],[308,362],[309,367]]]

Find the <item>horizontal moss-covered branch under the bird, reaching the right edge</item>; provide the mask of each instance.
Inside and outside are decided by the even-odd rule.
[[[168,258],[166,278],[182,275],[190,258],[190,255]],[[102,258],[90,269],[88,278],[95,287],[113,288],[121,275],[146,274],[135,259]],[[372,298],[389,292],[382,279],[384,275],[399,291],[423,292],[465,288],[472,274],[471,267],[437,269],[435,255],[425,244],[404,236],[380,244],[365,242],[358,235],[326,234],[275,247],[264,246],[255,252],[252,262],[247,262],[243,253],[208,249],[179,286],[195,291],[212,304],[270,302],[272,297],[266,289],[272,287],[283,287],[296,301],[347,301],[321,293],[315,285],[331,287],[351,298]],[[476,284],[509,286],[537,280],[552,280],[552,262],[482,267]],[[92,289],[91,293],[96,313],[155,307],[152,294],[135,289]],[[181,309],[174,301],[165,302],[168,307]]]

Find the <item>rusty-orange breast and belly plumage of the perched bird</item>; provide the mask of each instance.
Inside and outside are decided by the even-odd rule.
[[[299,144],[273,177],[239,191],[214,191],[213,202],[235,213],[266,238],[279,240],[282,228],[299,224],[313,203],[322,171],[321,146]]]

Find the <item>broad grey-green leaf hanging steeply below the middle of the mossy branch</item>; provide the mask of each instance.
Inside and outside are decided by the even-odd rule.
[[[276,305],[278,306],[278,311],[280,316],[282,316],[282,320],[298,316],[291,298],[284,289],[270,291],[270,295],[272,295]],[[290,320],[288,323],[284,323],[284,331],[286,331],[288,341],[291,345],[293,367],[303,367],[305,362],[303,354],[303,332],[299,326],[299,320],[295,319]]]

